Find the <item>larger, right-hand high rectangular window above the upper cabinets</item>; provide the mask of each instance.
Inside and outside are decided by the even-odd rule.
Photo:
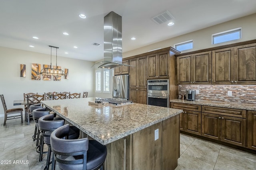
[[[241,38],[241,28],[231,29],[212,35],[212,44],[223,43]]]

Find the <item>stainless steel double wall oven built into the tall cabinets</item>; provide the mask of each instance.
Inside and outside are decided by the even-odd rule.
[[[148,80],[147,104],[169,107],[169,80]]]

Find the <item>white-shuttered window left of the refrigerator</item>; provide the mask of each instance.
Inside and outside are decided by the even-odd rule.
[[[95,91],[110,93],[110,76],[111,70],[98,69],[95,71]]]

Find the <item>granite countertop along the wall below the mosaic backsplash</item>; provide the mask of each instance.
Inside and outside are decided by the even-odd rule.
[[[184,104],[197,104],[197,105],[204,105],[204,106],[226,107],[226,108],[232,108],[232,109],[244,109],[244,110],[254,110],[254,111],[256,111],[256,104],[212,102],[212,101],[206,101],[206,100],[190,101],[190,100],[181,100],[181,99],[170,100],[170,102],[184,103]]]

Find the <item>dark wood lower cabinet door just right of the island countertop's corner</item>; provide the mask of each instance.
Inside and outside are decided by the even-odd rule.
[[[201,135],[201,112],[184,110],[185,131]]]

